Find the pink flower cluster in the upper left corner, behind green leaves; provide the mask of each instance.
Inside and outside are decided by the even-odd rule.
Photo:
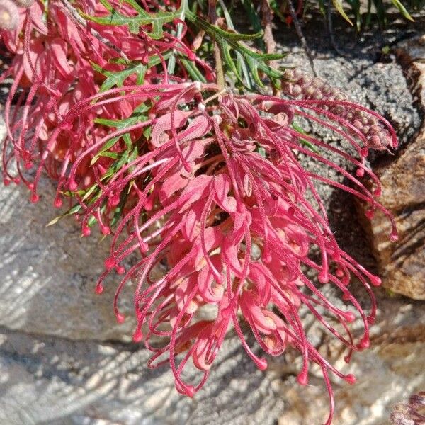
[[[87,15],[102,17],[108,14],[95,0],[83,1],[79,6]],[[119,7],[123,13],[131,15],[130,6],[120,4]],[[47,22],[43,18],[46,12]],[[176,21],[172,26],[178,24],[183,25]],[[139,74],[128,73],[123,78],[126,85],[139,84],[142,75],[146,82],[162,79],[168,83],[173,77],[166,72],[163,54],[170,49],[189,55],[205,68],[208,78],[214,77],[210,66],[194,57],[193,52],[172,35],[164,33],[163,40],[154,40],[143,30],[137,35],[131,33],[128,26],[98,23],[87,26],[89,28],[79,25],[61,1],[49,1],[47,6],[36,1],[28,8],[19,9],[14,30],[1,32],[4,45],[14,55],[11,67],[0,77],[0,82],[10,76],[14,79],[4,111],[8,132],[3,149],[4,181],[6,184],[9,181],[26,183],[33,191],[34,202],[38,200],[40,172],[45,167],[52,178],[59,179],[55,206],[60,207],[59,193],[64,188],[67,166],[77,157],[77,152],[108,135],[109,128],[96,125],[96,118],[122,120],[130,117],[135,106],[141,103],[132,96],[120,101],[106,99],[95,108],[86,103],[84,110],[78,112],[79,120],[69,129],[72,141],[62,135],[57,137],[57,130],[64,125],[64,116],[72,106],[96,96],[108,75],[125,71],[125,64],[120,63],[117,52],[122,52],[128,61],[147,65],[153,60],[163,68],[163,72],[149,67],[141,69]],[[132,140],[135,137],[137,134],[132,134]],[[8,144],[12,144],[13,149],[8,149]],[[42,149],[39,149],[40,144]],[[41,155],[43,150],[45,153]],[[18,166],[18,177],[8,173],[13,160]],[[30,182],[23,171],[31,169],[34,163],[39,163],[38,172]],[[109,164],[111,161],[105,158],[99,162],[103,171]],[[80,164],[77,175],[84,177],[85,187],[96,180],[95,168],[91,169],[88,163]],[[100,172],[102,174],[102,170]]]

